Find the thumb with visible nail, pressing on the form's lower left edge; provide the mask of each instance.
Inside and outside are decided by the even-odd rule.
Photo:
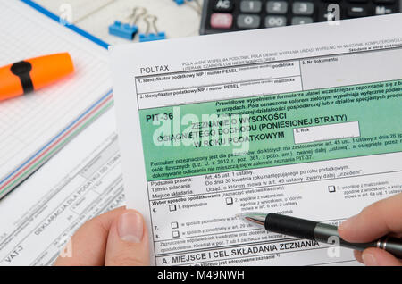
[[[107,238],[105,265],[149,265],[147,226],[137,211],[125,210],[113,221]]]

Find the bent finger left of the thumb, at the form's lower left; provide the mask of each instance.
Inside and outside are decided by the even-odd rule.
[[[110,227],[124,211],[125,208],[120,207],[87,221],[71,238],[71,254],[59,256],[54,265],[105,265],[105,247]]]

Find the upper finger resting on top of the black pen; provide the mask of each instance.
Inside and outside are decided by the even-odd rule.
[[[402,194],[365,207],[356,216],[340,224],[340,238],[348,242],[369,242],[389,232],[402,232]]]

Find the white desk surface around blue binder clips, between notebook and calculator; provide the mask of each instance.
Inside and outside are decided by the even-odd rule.
[[[109,35],[108,26],[116,20],[124,21],[134,7],[145,7],[148,14],[157,16],[157,28],[159,31],[165,31],[168,38],[197,36],[200,24],[200,15],[195,9],[197,5],[192,3],[179,6],[172,0],[36,0],[36,2],[58,15],[70,9],[74,24],[111,45],[130,43],[129,40]],[[202,0],[198,0],[198,3],[202,4]],[[145,32],[147,24],[140,20],[138,27],[140,32]]]

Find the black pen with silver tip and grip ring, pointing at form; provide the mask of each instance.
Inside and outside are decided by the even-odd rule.
[[[312,239],[317,242],[333,243],[339,239],[339,246],[363,251],[368,247],[378,247],[402,258],[402,239],[385,236],[370,243],[348,243],[339,238],[338,227],[317,221],[309,221],[276,213],[241,213],[239,217],[265,230],[292,237]]]

